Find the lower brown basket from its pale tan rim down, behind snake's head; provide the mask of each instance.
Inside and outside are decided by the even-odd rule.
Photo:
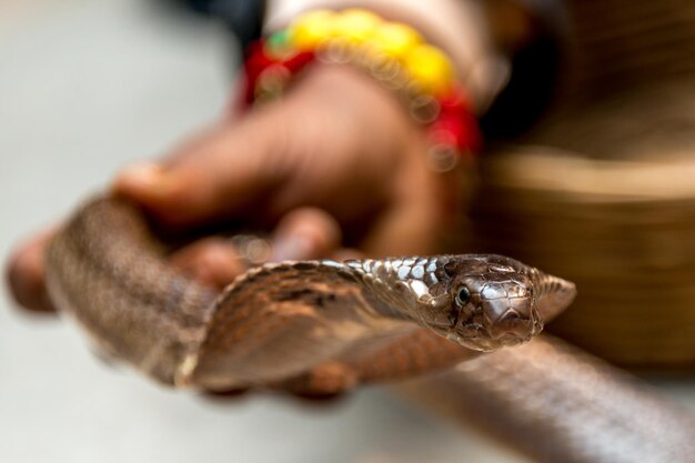
[[[624,366],[695,371],[695,159],[594,161],[538,149],[484,169],[475,248],[577,284],[552,332]]]

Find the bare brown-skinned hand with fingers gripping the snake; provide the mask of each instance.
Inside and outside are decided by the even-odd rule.
[[[389,91],[352,68],[318,67],[282,100],[222,119],[157,163],[127,168],[111,189],[165,229],[229,219],[270,228],[275,260],[431,254],[442,251],[462,175],[429,169],[427,147]],[[53,232],[19,245],[8,264],[12,294],[28,310],[53,310],[43,280]],[[215,286],[244,271],[215,239],[172,262]]]

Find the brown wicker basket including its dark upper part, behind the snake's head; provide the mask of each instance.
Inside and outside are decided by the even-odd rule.
[[[573,91],[483,160],[473,245],[577,284],[551,331],[624,366],[695,373],[695,2],[572,9]]]

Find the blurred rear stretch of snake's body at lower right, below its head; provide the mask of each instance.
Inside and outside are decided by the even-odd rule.
[[[694,463],[695,420],[653,387],[566,342],[462,362],[405,385],[427,407],[543,463]]]

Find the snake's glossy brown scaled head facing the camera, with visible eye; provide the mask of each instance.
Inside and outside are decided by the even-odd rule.
[[[543,321],[575,295],[574,284],[501,255],[437,258],[430,285],[430,320],[460,344],[480,350],[516,345],[543,330]]]

